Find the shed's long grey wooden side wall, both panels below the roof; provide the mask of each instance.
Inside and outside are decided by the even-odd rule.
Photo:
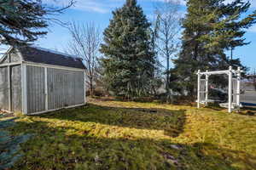
[[[82,105],[85,93],[84,71],[27,65],[26,88],[27,114]]]

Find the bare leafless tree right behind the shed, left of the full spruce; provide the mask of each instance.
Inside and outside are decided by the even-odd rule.
[[[68,42],[67,52],[82,58],[86,67],[86,84],[90,88],[90,96],[94,93],[97,67],[101,43],[101,33],[92,22],[81,25],[73,22],[69,28],[72,40]]]

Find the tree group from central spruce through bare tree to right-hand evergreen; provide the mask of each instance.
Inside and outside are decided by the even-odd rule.
[[[188,0],[186,5],[181,17],[179,2],[166,0],[155,8],[151,23],[136,0],[127,0],[113,12],[100,48],[108,91],[126,99],[155,96],[166,75],[166,101],[174,94],[194,99],[196,71],[226,70],[230,65],[246,70],[226,51],[249,43],[244,35],[256,20],[256,11],[247,14],[251,3]],[[212,82],[223,86],[225,80],[217,76]]]

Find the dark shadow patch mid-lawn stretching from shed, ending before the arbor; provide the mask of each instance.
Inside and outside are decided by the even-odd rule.
[[[166,135],[173,138],[183,133],[183,126],[186,122],[185,110],[118,108],[91,104],[77,109],[44,114],[39,117],[97,122],[137,129],[164,130]]]

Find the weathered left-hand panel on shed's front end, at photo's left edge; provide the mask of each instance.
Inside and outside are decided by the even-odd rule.
[[[0,67],[0,109],[9,110],[8,67]]]

